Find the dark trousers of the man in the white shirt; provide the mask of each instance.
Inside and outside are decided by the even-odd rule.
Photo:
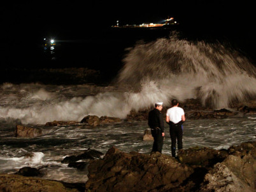
[[[170,125],[169,131],[171,136],[171,156],[175,157],[176,139],[178,141],[178,149],[182,149],[183,130],[181,125],[173,124],[173,125]]]

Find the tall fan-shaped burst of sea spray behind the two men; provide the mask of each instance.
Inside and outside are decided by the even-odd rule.
[[[204,106],[221,108],[255,98],[255,67],[241,53],[218,42],[195,43],[175,35],[150,43],[139,41],[127,51],[118,83],[141,90],[141,85],[150,86],[142,81],[153,81],[159,95],[167,94],[164,102],[173,97],[198,98]]]

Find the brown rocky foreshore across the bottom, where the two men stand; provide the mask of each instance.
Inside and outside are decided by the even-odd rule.
[[[178,158],[158,152],[106,154],[88,149],[63,163],[87,160],[89,180],[68,184],[40,178],[35,168],[0,174],[0,191],[255,191],[256,141],[229,149],[191,147]],[[81,168],[79,165],[76,168]],[[25,175],[25,176],[24,176]],[[32,177],[34,176],[34,177]]]

